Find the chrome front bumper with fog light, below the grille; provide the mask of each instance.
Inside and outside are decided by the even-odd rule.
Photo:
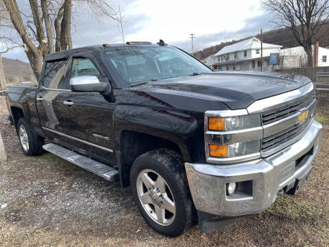
[[[313,121],[302,139],[266,158],[234,165],[185,163],[196,209],[214,215],[238,216],[269,208],[278,191],[291,186],[296,178],[308,175],[321,148],[322,135],[321,124]],[[297,159],[300,164],[295,166]],[[228,183],[241,183],[250,189],[247,193],[227,196]]]

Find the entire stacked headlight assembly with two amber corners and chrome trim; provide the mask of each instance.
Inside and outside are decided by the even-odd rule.
[[[205,113],[207,161],[234,163],[260,156],[263,128],[259,113],[224,110]]]

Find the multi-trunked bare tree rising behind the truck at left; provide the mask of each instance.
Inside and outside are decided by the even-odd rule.
[[[6,45],[0,54],[23,47],[37,80],[47,54],[72,49],[71,22],[79,11],[89,9],[97,13],[97,19],[106,16],[119,20],[106,0],[29,0],[28,3],[19,6],[15,0],[0,0],[3,19],[0,27],[7,30],[0,35],[1,43]]]

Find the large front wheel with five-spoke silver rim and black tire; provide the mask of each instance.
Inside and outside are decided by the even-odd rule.
[[[178,237],[192,226],[195,210],[177,152],[159,149],[138,156],[130,171],[130,185],[139,211],[158,233]]]

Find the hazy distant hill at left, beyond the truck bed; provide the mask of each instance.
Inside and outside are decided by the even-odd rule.
[[[31,81],[32,78],[34,78],[34,73],[28,62],[2,57],[2,63],[7,84],[12,84],[17,81]]]

